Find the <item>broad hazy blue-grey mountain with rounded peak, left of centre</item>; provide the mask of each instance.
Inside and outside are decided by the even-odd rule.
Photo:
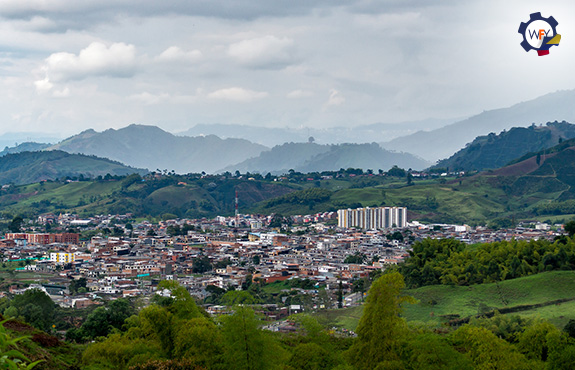
[[[213,172],[267,148],[242,139],[179,137],[155,126],[130,125],[103,132],[87,130],[50,149],[92,154],[150,170],[189,173]]]

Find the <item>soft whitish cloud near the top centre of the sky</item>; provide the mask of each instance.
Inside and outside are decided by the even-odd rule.
[[[293,44],[290,38],[268,35],[236,42],[228,55],[248,67],[281,68],[295,61]]]

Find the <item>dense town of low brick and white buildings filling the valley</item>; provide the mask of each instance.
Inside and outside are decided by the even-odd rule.
[[[89,219],[43,214],[23,223],[21,232],[7,233],[0,240],[3,267],[12,264],[15,277],[27,276],[27,283],[12,284],[1,294],[39,288],[62,307],[84,308],[120,297],[150,297],[161,280],[178,281],[199,302],[209,301],[214,287],[229,291],[253,283],[307,281],[311,289],[282,286],[286,295],[301,293],[306,299],[297,301],[303,304],[282,299],[271,305],[277,311],[272,316],[277,318],[335,308],[339,291],[340,305],[360,304],[365,292],[357,283],[402,262],[411,245],[424,238],[474,244],[553,240],[563,233],[562,225],[543,223],[500,230],[417,221],[402,226],[341,227],[336,212],[279,220],[276,215],[237,215],[158,223],[135,222],[131,214]],[[45,232],[47,228],[50,233]],[[85,284],[72,291],[70,285],[77,281]],[[320,286],[327,293],[323,300]],[[221,306],[206,304],[205,309],[218,313]]]

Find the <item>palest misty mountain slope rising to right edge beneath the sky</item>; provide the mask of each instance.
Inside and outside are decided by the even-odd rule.
[[[447,158],[480,135],[563,120],[575,122],[575,90],[558,91],[509,108],[486,111],[436,130],[417,132],[381,145],[434,162]]]

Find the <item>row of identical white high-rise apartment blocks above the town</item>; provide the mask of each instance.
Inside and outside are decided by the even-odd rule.
[[[407,208],[377,207],[340,209],[337,211],[337,226],[366,230],[389,229],[407,226]]]

